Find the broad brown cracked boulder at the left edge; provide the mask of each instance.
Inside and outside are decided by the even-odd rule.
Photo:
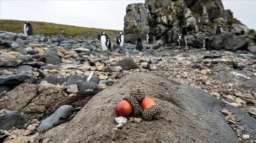
[[[63,94],[62,86],[48,84],[20,84],[3,97],[0,108],[20,110],[23,113],[53,112],[68,97]]]

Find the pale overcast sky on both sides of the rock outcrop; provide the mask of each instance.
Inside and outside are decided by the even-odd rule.
[[[140,2],[144,0],[0,0],[0,19],[122,30],[127,5]],[[256,30],[256,0],[223,0],[223,5]]]

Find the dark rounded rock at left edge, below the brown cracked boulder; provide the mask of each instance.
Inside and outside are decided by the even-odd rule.
[[[23,127],[28,122],[28,117],[17,111],[0,115],[0,129],[10,130],[12,127]]]

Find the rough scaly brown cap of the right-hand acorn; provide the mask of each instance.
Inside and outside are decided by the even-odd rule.
[[[158,104],[153,105],[151,108],[144,110],[142,113],[144,120],[159,119],[160,114],[161,106]]]

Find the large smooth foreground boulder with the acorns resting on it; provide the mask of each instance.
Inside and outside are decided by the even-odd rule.
[[[161,105],[159,120],[127,122],[119,135],[112,135],[117,125],[115,105],[134,88]],[[223,105],[226,104],[201,89],[153,74],[135,73],[94,96],[61,132],[46,132],[42,138],[53,142],[239,142],[220,112]],[[255,137],[255,119],[238,108],[226,106],[238,118],[245,116],[242,125],[250,122],[250,130],[245,128],[245,132]]]

